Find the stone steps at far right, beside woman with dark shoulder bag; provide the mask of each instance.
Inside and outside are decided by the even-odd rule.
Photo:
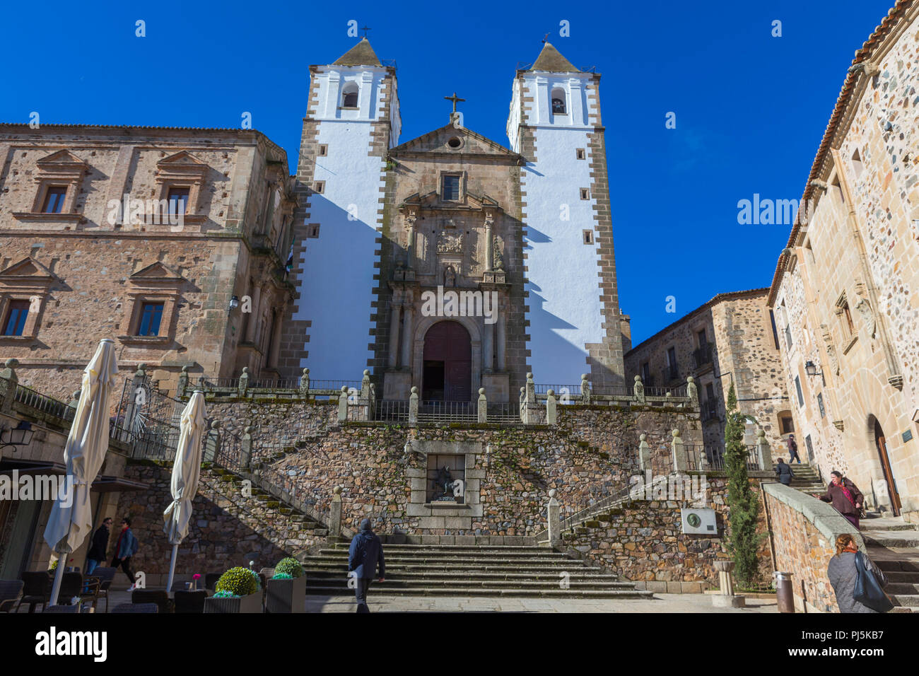
[[[868,556],[887,576],[891,613],[919,613],[919,527],[902,517],[861,521]]]

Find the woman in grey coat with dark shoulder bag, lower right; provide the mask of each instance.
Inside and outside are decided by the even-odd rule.
[[[893,603],[884,593],[887,576],[858,551],[850,533],[836,538],[836,556],[826,568],[840,613],[887,613]]]

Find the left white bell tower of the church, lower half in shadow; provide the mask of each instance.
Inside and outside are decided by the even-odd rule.
[[[310,66],[297,167],[283,372],[360,372],[372,357],[386,154],[399,141],[395,67],[365,37],[335,63]]]

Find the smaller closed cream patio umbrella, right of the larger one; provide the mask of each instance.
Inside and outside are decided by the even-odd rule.
[[[166,580],[166,591],[172,590],[176,574],[176,556],[178,545],[182,544],[188,534],[188,522],[191,521],[191,501],[198,490],[198,478],[201,474],[201,438],[204,435],[204,395],[196,390],[188,399],[182,411],[182,422],[179,428],[176,461],[173,464],[173,475],[170,489],[173,501],[163,512],[165,523],[163,532],[173,545],[172,559],[169,562],[169,578]]]

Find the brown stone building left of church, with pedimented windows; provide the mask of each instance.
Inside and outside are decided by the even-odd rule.
[[[263,134],[3,124],[0,163],[0,358],[23,384],[66,401],[100,338],[173,389],[183,367],[278,376],[294,196]]]

